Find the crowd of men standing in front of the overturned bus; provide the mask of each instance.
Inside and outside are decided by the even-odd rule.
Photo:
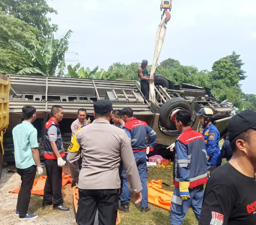
[[[86,110],[79,109],[77,120],[71,124],[67,163],[72,187],[77,185],[79,190],[76,220],[81,225],[93,225],[98,211],[100,225],[114,225],[118,209],[129,213],[131,196],[135,204],[140,203],[141,213],[150,210],[147,153],[154,149],[156,133],[146,122],[134,118],[129,107],[113,110],[107,99],[93,107],[92,123],[90,118],[86,120]],[[32,220],[38,216],[27,212],[30,191],[36,169],[38,175],[43,169],[37,130],[31,124],[36,120],[36,109],[24,106],[22,113],[24,121],[13,129],[15,163],[22,180],[15,215],[19,220]],[[62,107],[54,105],[45,124],[47,179],[42,204],[68,211],[61,194],[62,166],[66,164],[58,124],[62,116]],[[247,110],[231,118],[225,154],[212,123],[213,111],[204,107],[197,116],[201,123],[198,131],[190,127],[189,111],[180,110],[175,118],[180,136],[170,146],[171,151],[175,149],[171,225],[182,224],[190,206],[201,225],[255,224],[256,112]],[[224,157],[229,161],[221,165]]]

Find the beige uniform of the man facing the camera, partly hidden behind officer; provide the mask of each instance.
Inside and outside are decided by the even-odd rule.
[[[71,131],[72,131],[72,139],[75,136],[78,129],[81,129],[83,126],[87,125],[87,121],[84,122],[79,121],[77,118],[72,124],[71,124]],[[71,141],[71,145],[73,145],[73,142]],[[77,148],[77,151],[70,151],[70,147],[68,148],[68,155],[67,155],[67,162],[69,165],[71,178],[73,181],[73,184],[78,183],[78,177],[79,177],[79,164],[78,161],[81,159],[81,151],[79,151],[79,148]]]

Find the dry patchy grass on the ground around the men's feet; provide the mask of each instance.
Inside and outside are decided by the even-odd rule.
[[[222,141],[223,143],[223,141]],[[220,143],[220,145],[222,145]],[[222,160],[222,164],[226,162],[226,159]],[[44,176],[46,176],[45,168]],[[36,176],[38,178],[38,176]],[[173,185],[173,167],[171,168],[148,168],[148,181],[151,180],[163,180],[165,184],[162,184],[163,189],[165,190],[174,190]],[[64,189],[65,187],[63,187]],[[70,188],[70,185],[67,187]],[[70,194],[71,195],[71,194]],[[58,213],[58,211],[52,210],[52,206],[42,206],[43,196],[31,195],[31,201],[29,204],[29,212],[38,214],[38,216],[46,216]],[[65,205],[73,209],[73,197],[66,196]],[[135,205],[133,201],[130,203],[130,212],[124,213],[119,211],[121,216],[120,225],[170,225],[170,212],[160,207],[150,205],[151,210],[147,213],[140,212],[140,205]],[[193,210],[190,208],[185,216],[183,225],[195,225],[198,224],[198,221],[195,218]]]

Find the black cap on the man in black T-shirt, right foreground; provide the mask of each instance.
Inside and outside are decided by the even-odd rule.
[[[256,129],[256,111],[245,110],[234,115],[228,124],[228,139],[232,141],[239,134],[249,129]]]

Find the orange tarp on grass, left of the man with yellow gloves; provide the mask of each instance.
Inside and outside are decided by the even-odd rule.
[[[173,191],[162,189],[162,180],[151,180],[148,182],[148,202],[150,204],[170,210]]]

